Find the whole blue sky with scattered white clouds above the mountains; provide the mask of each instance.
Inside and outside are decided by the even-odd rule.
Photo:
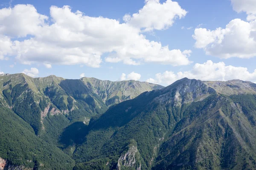
[[[23,72],[33,77],[46,77],[54,74],[67,79],[79,79],[80,76],[96,77],[98,79],[108,79],[112,81],[136,79],[140,81],[159,83],[162,85],[168,85],[183,77],[202,80],[243,79],[256,82],[256,71],[254,71],[256,67],[253,64],[256,63],[256,57],[254,57],[256,55],[256,51],[253,49],[255,41],[253,37],[249,37],[248,40],[245,38],[241,40],[241,37],[246,37],[246,35],[243,35],[241,33],[243,31],[241,30],[237,31],[241,27],[244,27],[245,29],[247,28],[246,26],[250,25],[250,28],[248,27],[244,32],[248,32],[250,35],[255,35],[253,34],[254,30],[256,30],[256,24],[253,25],[255,19],[247,18],[249,15],[254,16],[256,14],[256,10],[253,11],[253,9],[248,7],[248,5],[250,6],[249,3],[252,2],[251,0],[244,0],[242,3],[238,2],[238,0],[174,0],[173,2],[177,2],[180,9],[186,11],[185,13],[184,11],[177,10],[179,7],[175,7],[174,4],[167,6],[167,2],[170,3],[172,2],[171,0],[158,1],[159,0],[2,0],[0,3],[0,10],[3,11],[3,9],[6,8],[11,10],[11,12],[8,13],[8,10],[5,10],[0,13],[0,23],[2,23],[0,24],[0,37],[2,36],[2,39],[5,37],[4,40],[6,41],[0,41],[0,45],[1,43],[8,45],[7,42],[12,42],[13,46],[11,47],[12,49],[7,52],[6,48],[8,48],[10,44],[8,47],[5,46],[6,48],[4,49],[0,48],[0,72],[9,74]],[[166,5],[166,12],[159,14],[157,16],[159,17],[158,19],[152,19],[154,16],[150,15],[150,10],[154,13],[155,9],[149,7],[150,3],[151,6],[158,6],[159,8]],[[15,8],[17,4],[31,4],[31,6],[24,5],[17,9]],[[254,4],[256,4],[256,1],[251,6]],[[110,37],[112,36],[111,34],[113,34],[116,39],[113,40],[113,45],[109,45],[111,47],[105,47],[105,45],[108,46],[112,41],[106,40],[106,44],[104,44],[105,42],[97,44],[98,41],[96,41],[87,45],[88,42],[86,40],[86,36],[83,37],[82,35],[81,40],[79,39],[80,37],[78,37],[79,44],[87,42],[85,43],[87,46],[80,47],[80,45],[78,45],[77,48],[86,48],[85,51],[87,51],[89,47],[92,47],[90,55],[89,52],[87,52],[89,57],[87,57],[87,53],[81,54],[82,57],[86,56],[88,60],[92,61],[87,62],[85,59],[81,59],[82,62],[80,62],[80,52],[74,51],[76,48],[76,42],[74,42],[74,40],[63,40],[63,38],[59,37],[55,40],[54,34],[56,33],[51,33],[51,36],[48,37],[48,39],[44,38],[44,34],[42,32],[51,31],[52,29],[50,29],[50,26],[58,21],[66,20],[65,16],[56,14],[57,19],[55,20],[58,21],[55,21],[54,17],[50,14],[51,6],[56,6],[55,8],[52,8],[52,12],[55,13],[64,11],[63,6],[70,6],[71,12],[68,14],[74,14],[79,10],[83,13],[80,16],[80,19],[83,16],[95,18],[101,16],[103,18],[117,20],[119,21],[119,24],[128,25],[129,28],[122,29],[121,31],[124,32],[122,34],[120,33],[120,36],[118,34],[115,36],[113,32],[109,31],[111,30],[112,25],[108,25],[107,28],[106,25],[99,21],[97,28],[100,28],[100,30],[96,29],[93,33],[83,32],[87,37],[88,35],[93,38],[96,37],[103,42],[105,41],[105,34]],[[148,7],[147,11],[139,11],[146,7]],[[31,15],[17,15],[15,12],[19,10],[26,11],[32,8],[36,9],[36,12],[34,12],[38,14],[38,16],[41,14],[49,17],[48,20],[44,20],[43,24],[38,23],[36,26],[33,25],[36,20],[35,18],[31,19],[31,23],[27,22],[24,24],[19,22],[16,24],[17,21],[20,21],[21,19],[30,20]],[[170,14],[172,13],[175,13],[173,18],[170,17]],[[131,20],[128,22],[123,20],[125,14],[129,14],[131,16]],[[138,15],[137,17],[133,17],[132,14]],[[3,15],[2,18],[4,18],[2,21],[1,15]],[[179,18],[179,15],[182,17]],[[170,20],[164,20],[163,18],[165,17],[169,17],[173,23],[171,24]],[[142,20],[140,20],[141,18]],[[147,22],[143,23],[142,21]],[[234,21],[233,25],[231,24],[232,26],[230,26],[230,28],[225,29],[226,25],[231,21]],[[83,23],[81,20],[74,22],[77,23],[73,23],[72,20],[67,20],[67,22],[64,23],[67,26],[59,25],[58,28],[62,30],[61,26],[63,26],[63,28],[67,29],[71,33],[77,33],[79,30],[73,28],[72,25],[74,27],[76,27],[76,24],[85,24],[88,27],[93,25],[92,23],[86,23],[86,21]],[[95,21],[92,22],[95,23]],[[147,25],[148,23],[149,25]],[[13,30],[10,28],[10,26],[14,25],[15,27],[19,27],[19,24],[21,24],[21,27],[27,25],[26,28],[21,28],[23,32],[17,28],[13,28]],[[29,26],[29,24],[31,24],[31,26]],[[245,24],[246,26],[243,26],[242,24]],[[163,25],[164,28],[161,27],[161,25]],[[239,28],[234,27],[234,25]],[[41,27],[47,26],[49,26],[49,28],[41,29]],[[3,31],[1,31],[1,27]],[[41,31],[35,30],[34,27],[35,29],[40,27],[38,30],[41,29]],[[212,32],[219,27],[222,29],[221,33],[217,31]],[[10,29],[8,30],[6,28]],[[138,43],[135,45],[141,45],[140,48],[129,48],[128,52],[126,51],[129,55],[127,54],[126,56],[125,54],[125,57],[122,56],[122,51],[127,48],[127,46],[122,45],[122,43],[128,43],[126,41],[123,42],[122,39],[125,38],[125,31],[130,28],[135,31],[140,30],[137,34],[134,34],[134,31],[131,31],[131,37],[134,36],[134,40],[142,40],[142,42],[144,40],[148,40],[149,42],[153,41],[158,44],[160,43],[162,47],[166,47],[166,45],[168,45],[169,51],[162,54],[162,50],[154,51],[154,49],[152,49],[152,51],[148,52],[145,49],[145,52],[142,52],[143,50],[141,48],[144,48],[144,46],[141,45],[141,43]],[[146,28],[150,29],[150,31],[145,31],[144,29]],[[206,29],[204,30],[204,28]],[[88,30],[90,30],[90,28],[88,28],[87,31]],[[99,31],[99,34],[97,31]],[[118,31],[120,31],[120,29],[118,29]],[[104,34],[102,32],[104,32]],[[128,37],[130,36],[129,34],[130,33],[128,32]],[[209,34],[212,41],[209,40]],[[63,37],[65,37],[65,35],[66,34],[63,33]],[[144,36],[144,38],[138,39],[137,36],[139,35]],[[61,36],[62,35],[60,35],[60,37]],[[37,42],[35,47],[32,47],[32,45],[23,45],[24,40],[32,39],[34,39],[32,43],[35,43],[35,41]],[[207,42],[205,42],[205,40],[207,40]],[[248,45],[241,45],[240,49],[239,42],[244,44],[243,42],[248,42],[250,40],[251,42]],[[15,41],[20,42],[20,44],[14,45]],[[236,41],[238,41],[238,43],[235,44]],[[199,43],[200,45],[198,45]],[[60,52],[57,50],[57,48],[59,48],[59,44],[61,44],[62,47],[59,49],[60,51],[63,51],[64,48],[70,48],[69,51],[61,54],[67,55],[68,59],[66,61],[58,58],[60,57],[58,56]],[[44,48],[41,49],[43,52],[33,50],[34,48],[40,48],[41,45],[44,46]],[[93,45],[95,45],[95,47]],[[102,48],[106,49],[102,50],[101,45]],[[236,45],[238,46],[236,47]],[[50,50],[49,47],[51,47]],[[115,50],[116,48],[118,48],[118,50]],[[172,50],[176,49],[180,50],[179,54],[172,53]],[[132,55],[135,57],[130,58],[130,51],[133,50],[137,50],[139,52],[134,52]],[[181,54],[185,50],[189,50],[189,54]],[[99,52],[100,54],[98,54]],[[156,54],[151,56],[154,52],[156,52]],[[159,53],[159,55],[157,53]],[[51,54],[51,57],[47,56],[47,54]],[[91,57],[91,55],[94,54],[98,54],[100,57],[98,56],[94,59]],[[17,57],[19,55],[20,57]],[[73,62],[73,55],[76,55],[77,61]],[[116,59],[118,58],[118,62],[109,62],[109,60],[105,59],[112,55],[114,57],[117,56]],[[55,59],[55,57],[57,59]],[[176,58],[180,57],[183,57],[183,60],[175,62]],[[94,63],[94,60],[97,59],[101,59],[101,62]],[[128,63],[128,59],[132,59],[133,62]],[[51,65],[51,68],[47,68],[45,64]],[[31,68],[36,69],[31,70]],[[123,77],[121,78],[122,74]]]

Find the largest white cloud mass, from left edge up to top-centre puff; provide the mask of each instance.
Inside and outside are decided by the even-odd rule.
[[[89,17],[81,11],[71,11],[70,6],[51,6],[49,17],[39,14],[32,5],[2,8],[0,59],[16,56],[22,64],[40,63],[46,67],[52,64],[100,67],[102,54],[108,54],[106,62],[188,65],[191,51],[170,50],[168,45],[146,39],[142,30],[169,28],[175,18],[185,15],[186,11],[171,0],[162,4],[159,0],[146,0],[139,13],[131,17],[125,14],[126,23]],[[137,26],[141,20],[143,23]],[[12,41],[17,37],[25,40]]]

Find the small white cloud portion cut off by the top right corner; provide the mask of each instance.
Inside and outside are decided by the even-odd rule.
[[[255,0],[231,0],[233,10],[236,12],[246,12],[247,20],[256,19],[256,1]]]

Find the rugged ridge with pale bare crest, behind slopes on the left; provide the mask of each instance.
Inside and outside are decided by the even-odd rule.
[[[86,82],[85,79],[81,81],[56,76],[32,78],[25,74],[1,74],[0,98],[39,135],[42,130],[47,131],[46,126],[51,122],[66,124],[67,121],[84,121],[104,113],[108,109],[107,105],[162,87],[137,81],[110,82],[88,78]],[[105,89],[107,98],[102,96],[100,89]],[[116,99],[118,96],[121,98]],[[60,128],[63,129],[63,125]],[[60,131],[55,128],[56,130]]]

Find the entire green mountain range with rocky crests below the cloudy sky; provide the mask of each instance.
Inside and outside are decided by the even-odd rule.
[[[256,84],[0,75],[0,167],[256,169]]]

